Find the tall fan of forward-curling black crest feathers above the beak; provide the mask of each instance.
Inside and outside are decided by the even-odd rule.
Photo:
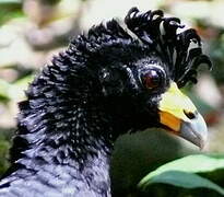
[[[139,39],[155,50],[170,71],[172,79],[178,86],[187,82],[197,82],[197,69],[205,63],[212,68],[211,60],[202,54],[201,38],[196,30],[189,28],[177,33],[182,28],[178,18],[164,18],[161,10],[141,13],[132,8],[125,22]],[[191,43],[196,45],[190,48]]]

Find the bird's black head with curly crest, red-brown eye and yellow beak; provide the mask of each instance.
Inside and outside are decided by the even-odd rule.
[[[160,127],[202,148],[207,125],[179,90],[197,82],[200,65],[211,67],[197,32],[177,33],[184,27],[180,20],[160,10],[141,13],[132,8],[125,23],[127,31],[113,20],[73,42],[85,54],[86,72],[97,83],[93,91],[115,130]]]

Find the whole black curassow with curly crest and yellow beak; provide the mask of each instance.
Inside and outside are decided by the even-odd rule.
[[[109,197],[109,164],[119,135],[150,127],[202,147],[207,126],[178,88],[209,65],[194,30],[160,10],[132,8],[93,26],[34,79],[19,104],[2,197]],[[192,44],[193,43],[193,47]]]

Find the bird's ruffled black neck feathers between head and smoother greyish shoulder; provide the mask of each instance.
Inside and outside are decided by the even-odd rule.
[[[110,153],[113,128],[101,105],[94,105],[91,84],[71,79],[69,66],[59,66],[59,60],[67,59],[47,66],[26,91],[27,101],[20,103],[12,162],[27,165],[25,160],[32,159],[72,166]]]

